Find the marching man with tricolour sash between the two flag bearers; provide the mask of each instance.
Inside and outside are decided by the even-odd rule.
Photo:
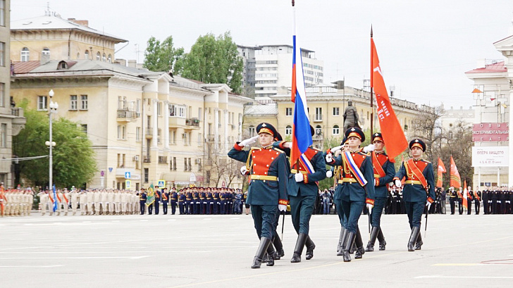
[[[365,134],[358,127],[352,127],[345,132],[347,146],[337,146],[326,153],[328,165],[342,165],[338,177],[338,186],[335,194],[335,204],[342,208],[345,234],[342,239],[342,256],[344,262],[351,261],[350,249],[355,243],[357,251],[354,258],[362,258],[365,253],[364,244],[358,229],[358,220],[367,205],[369,210],[374,205],[374,172],[372,160],[360,148],[365,141]],[[333,152],[342,149],[342,154],[333,158]]]

